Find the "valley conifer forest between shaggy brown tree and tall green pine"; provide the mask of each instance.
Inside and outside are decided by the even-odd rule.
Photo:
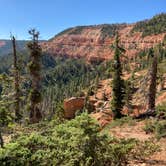
[[[57,105],[65,98],[84,95],[83,89],[89,89],[92,85],[91,93],[94,93],[97,82],[100,79],[110,78],[107,74],[110,64],[100,65],[87,64],[83,59],[55,59],[55,66],[45,71],[43,88],[43,111],[56,112]],[[44,72],[43,72],[44,73]],[[93,92],[92,92],[93,91]],[[90,107],[89,107],[90,108]],[[47,113],[46,113],[47,114]]]

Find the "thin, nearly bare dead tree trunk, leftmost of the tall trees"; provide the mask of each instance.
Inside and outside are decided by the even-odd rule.
[[[15,120],[16,122],[20,120],[20,85],[19,85],[19,69],[18,69],[18,60],[16,53],[16,40],[15,37],[12,36],[12,45],[13,45],[13,66],[14,66],[14,107],[15,107]]]

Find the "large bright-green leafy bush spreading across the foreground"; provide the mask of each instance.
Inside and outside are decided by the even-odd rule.
[[[137,141],[118,140],[99,131],[94,120],[83,113],[74,120],[54,126],[51,133],[33,132],[15,138],[4,149],[0,149],[0,164],[120,166],[135,154]]]

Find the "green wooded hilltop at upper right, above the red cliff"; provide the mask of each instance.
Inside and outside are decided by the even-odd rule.
[[[162,13],[154,16],[150,20],[136,23],[132,32],[134,31],[142,32],[143,37],[166,32],[166,14]]]

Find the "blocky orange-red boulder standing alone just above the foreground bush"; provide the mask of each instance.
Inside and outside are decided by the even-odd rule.
[[[72,97],[64,100],[64,117],[66,119],[72,119],[75,117],[76,111],[82,109],[85,104],[85,98]]]

